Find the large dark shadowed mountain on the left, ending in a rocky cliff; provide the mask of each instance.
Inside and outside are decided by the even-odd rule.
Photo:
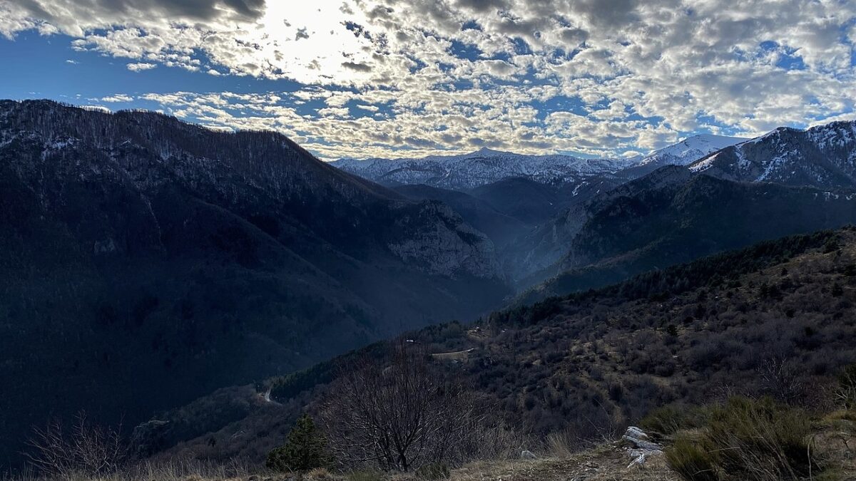
[[[135,422],[506,290],[438,202],[282,135],[0,102],[0,462],[49,413]]]

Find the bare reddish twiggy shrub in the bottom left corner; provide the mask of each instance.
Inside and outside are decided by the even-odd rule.
[[[27,459],[35,468],[54,478],[75,474],[100,477],[117,472],[128,460],[128,449],[118,430],[92,425],[79,413],[70,431],[53,421],[33,430],[27,441]]]

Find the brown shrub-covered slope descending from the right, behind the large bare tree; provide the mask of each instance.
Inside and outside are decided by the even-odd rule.
[[[494,402],[509,425],[586,440],[674,402],[744,394],[816,406],[841,367],[856,362],[854,319],[856,230],[843,229],[762,242],[407,338],[435,354],[437,369]],[[149,425],[140,434],[151,435],[150,446],[171,446],[170,455],[261,459],[351,355],[273,380],[272,402],[250,388],[221,392],[164,413],[163,431]],[[217,414],[227,407],[233,416]],[[203,422],[205,432],[170,431]]]

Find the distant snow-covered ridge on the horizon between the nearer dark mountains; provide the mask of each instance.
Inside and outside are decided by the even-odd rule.
[[[568,155],[530,156],[483,148],[463,155],[422,158],[340,159],[339,169],[383,184],[425,184],[473,188],[508,177],[544,183],[578,181],[615,173],[633,164],[627,159],[585,159]]]

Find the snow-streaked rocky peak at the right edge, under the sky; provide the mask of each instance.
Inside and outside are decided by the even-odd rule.
[[[689,167],[733,181],[856,188],[856,122],[832,122],[807,130],[776,128]]]

